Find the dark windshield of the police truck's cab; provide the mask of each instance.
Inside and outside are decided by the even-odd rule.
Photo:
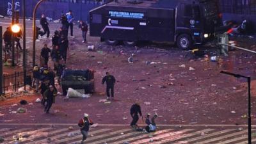
[[[215,3],[202,4],[202,10],[205,17],[218,15],[218,6]]]

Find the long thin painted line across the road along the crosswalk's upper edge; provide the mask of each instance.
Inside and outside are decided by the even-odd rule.
[[[73,126],[73,125],[77,125],[77,124],[47,124],[47,123],[38,123],[38,124],[35,124],[35,123],[19,123],[19,124],[13,124],[13,123],[6,123],[6,124],[3,124],[1,123],[0,125],[68,125],[68,126]],[[129,124],[99,124],[99,126],[109,126],[109,127],[129,127],[130,125]],[[146,126],[145,124],[143,125],[140,125],[140,126]],[[221,124],[191,124],[191,125],[188,125],[188,124],[171,124],[171,125],[168,125],[168,124],[157,124],[157,126],[159,127],[248,127],[248,125],[228,125],[228,124],[225,124],[225,125],[221,125]],[[256,125],[252,125],[252,127],[256,127]]]

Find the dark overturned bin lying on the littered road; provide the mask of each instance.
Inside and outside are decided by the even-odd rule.
[[[67,95],[68,88],[84,90],[84,93],[94,92],[94,70],[70,70],[67,69],[61,76],[61,88],[63,95]]]

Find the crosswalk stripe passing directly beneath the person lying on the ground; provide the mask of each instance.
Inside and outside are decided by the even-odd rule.
[[[190,131],[192,131],[192,129],[190,129]],[[114,143],[118,144],[118,143],[124,143],[125,141],[140,140],[141,138],[149,138],[149,136],[157,136],[158,134],[165,134],[167,132],[175,132],[175,129],[164,129],[164,130],[157,131],[157,132],[154,132],[154,133],[142,134],[140,136],[134,136],[132,138],[127,138],[125,140],[115,141]]]

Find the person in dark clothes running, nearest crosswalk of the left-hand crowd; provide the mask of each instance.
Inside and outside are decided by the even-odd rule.
[[[45,113],[49,113],[49,110],[52,107],[52,103],[54,103],[54,97],[56,96],[56,92],[54,92],[54,87],[52,85],[49,86],[49,89],[44,92],[46,99],[46,106],[44,108]]]

